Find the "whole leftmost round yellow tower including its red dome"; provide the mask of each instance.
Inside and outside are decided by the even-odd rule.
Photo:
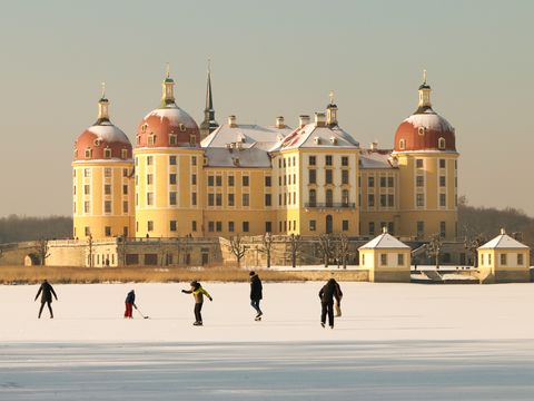
[[[134,226],[134,159],[126,134],[109,119],[102,90],[98,119],[75,143],[73,236],[129,236]],[[88,265],[95,265],[88,262]]]

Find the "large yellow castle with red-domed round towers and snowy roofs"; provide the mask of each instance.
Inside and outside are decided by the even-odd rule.
[[[325,111],[273,126],[215,120],[208,71],[200,127],[175,99],[167,72],[161,104],[140,121],[135,147],[111,123],[102,92],[98,119],[76,140],[73,237],[209,238],[235,235],[457,235],[455,130],[431,102],[426,80],[393,149],[362,148]]]

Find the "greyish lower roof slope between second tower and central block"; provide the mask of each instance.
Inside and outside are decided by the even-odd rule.
[[[204,151],[208,167],[270,167],[269,154],[256,147],[241,149],[208,147]]]

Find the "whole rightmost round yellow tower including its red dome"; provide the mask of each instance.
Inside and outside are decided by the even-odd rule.
[[[400,235],[427,238],[457,232],[457,158],[455,129],[432,108],[431,86],[419,86],[415,113],[397,128],[392,156],[400,170]]]

